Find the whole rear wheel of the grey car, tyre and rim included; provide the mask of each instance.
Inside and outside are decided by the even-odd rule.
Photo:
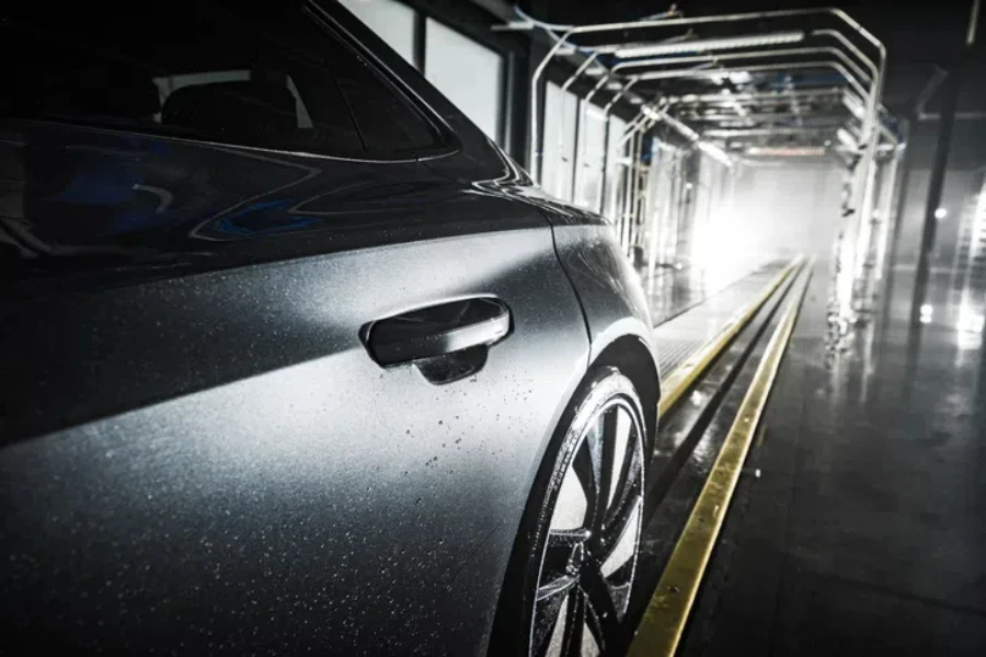
[[[643,519],[644,417],[615,368],[581,388],[528,500],[491,654],[598,655],[622,635]]]

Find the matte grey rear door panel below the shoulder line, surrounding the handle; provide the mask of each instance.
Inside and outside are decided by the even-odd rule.
[[[435,385],[413,366],[385,370],[359,341],[368,320],[467,295],[513,313],[512,334],[469,379]],[[102,362],[112,377],[99,384],[154,377],[162,349],[169,380],[291,357],[8,443],[9,636],[131,652],[484,649],[540,452],[586,367],[581,310],[547,228],[61,303],[47,309],[67,342],[102,332],[128,355]],[[62,348],[47,334],[14,338],[4,358]],[[216,354],[197,360],[188,345]],[[38,373],[73,380],[84,397],[90,366]]]

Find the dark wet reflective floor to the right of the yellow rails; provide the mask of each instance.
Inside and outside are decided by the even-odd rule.
[[[912,276],[898,273],[876,321],[839,348],[826,337],[827,268],[681,654],[984,655],[983,308],[942,276],[929,322],[912,323]]]

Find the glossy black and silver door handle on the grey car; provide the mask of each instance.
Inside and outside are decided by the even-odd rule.
[[[511,309],[491,297],[431,306],[370,322],[364,343],[387,367],[496,344],[511,332]]]

